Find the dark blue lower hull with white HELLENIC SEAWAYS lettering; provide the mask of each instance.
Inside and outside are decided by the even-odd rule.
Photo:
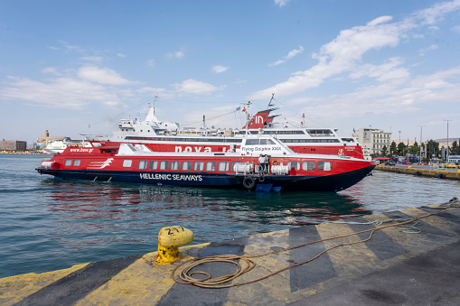
[[[258,184],[272,184],[281,190],[296,191],[340,191],[351,187],[369,174],[375,166],[352,172],[328,176],[294,175],[242,175],[227,173],[184,173],[184,172],[110,172],[100,170],[37,169],[67,180],[120,181],[153,185],[197,186],[248,189]],[[250,179],[248,179],[250,178]],[[246,180],[245,180],[246,179]],[[245,186],[246,185],[246,186]]]

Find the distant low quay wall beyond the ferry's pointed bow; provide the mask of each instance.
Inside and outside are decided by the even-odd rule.
[[[460,181],[460,169],[443,169],[443,168],[430,169],[430,168],[422,168],[417,165],[414,165],[414,166],[385,166],[385,165],[379,164],[377,165],[377,167],[375,167],[374,170]]]

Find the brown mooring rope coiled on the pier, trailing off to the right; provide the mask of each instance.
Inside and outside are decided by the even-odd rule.
[[[430,213],[430,214],[427,214],[427,215],[424,215],[424,216],[421,216],[421,217],[418,217],[418,218],[405,219],[405,220],[403,220],[401,222],[398,222],[398,223],[395,223],[395,224],[389,224],[389,225],[385,225],[385,226],[381,226],[381,227],[366,229],[366,230],[362,230],[360,232],[346,234],[346,235],[343,235],[343,236],[334,236],[334,237],[330,237],[330,238],[324,238],[324,239],[321,239],[321,240],[308,242],[308,243],[305,243],[303,245],[291,246],[291,247],[287,247],[287,248],[284,248],[284,249],[281,249],[281,250],[268,252],[268,253],[260,254],[260,255],[215,255],[215,256],[206,256],[206,257],[199,257],[199,258],[189,259],[189,260],[183,262],[182,264],[177,265],[174,268],[173,272],[171,273],[171,277],[173,278],[175,283],[192,284],[192,285],[202,287],[202,288],[215,288],[215,289],[230,288],[230,287],[241,286],[241,285],[245,285],[245,284],[249,284],[249,283],[257,283],[259,281],[267,279],[268,277],[271,277],[271,276],[276,275],[276,274],[280,274],[280,273],[282,273],[282,272],[284,272],[286,270],[294,268],[294,267],[296,267],[298,265],[309,263],[309,262],[313,261],[314,259],[318,258],[319,256],[323,255],[324,253],[333,250],[334,248],[337,248],[337,247],[340,247],[340,246],[352,246],[352,245],[361,244],[361,243],[364,243],[366,241],[369,241],[369,240],[371,240],[371,237],[373,236],[373,234],[376,231],[381,230],[383,228],[396,227],[396,228],[399,228],[404,233],[410,233],[410,234],[419,233],[420,230],[417,227],[415,227],[415,225],[417,225],[420,222],[421,218],[427,218],[427,217],[430,217],[430,216],[435,216],[435,215],[437,215],[437,214],[439,214],[441,212],[444,212],[444,211],[446,211],[447,209],[450,209],[450,208],[460,208],[460,201],[457,198],[453,198],[453,199],[450,199],[446,203],[439,204],[437,206],[437,208],[431,208],[431,207],[424,207],[424,208],[427,208],[427,209],[439,209],[439,210],[436,213]],[[397,219],[391,219],[391,221],[393,221],[393,222],[395,220],[399,220],[399,219],[398,218]],[[386,221],[386,220],[384,220],[384,221]],[[338,223],[338,222],[334,222],[334,223]],[[378,222],[369,222],[369,224],[372,224],[372,223],[379,224]],[[384,223],[384,222],[382,221],[380,224],[382,224],[382,223]],[[410,223],[415,223],[415,224],[409,226]],[[352,224],[357,224],[357,223],[352,223]],[[363,224],[368,224],[368,223],[363,223]],[[262,257],[262,256],[267,256],[267,255],[275,255],[275,254],[286,252],[286,251],[289,251],[289,250],[293,250],[293,249],[296,249],[296,248],[299,248],[299,247],[310,246],[310,245],[314,245],[314,244],[319,243],[319,242],[339,239],[339,238],[343,238],[343,237],[347,237],[347,236],[359,235],[359,234],[362,234],[362,233],[370,233],[370,235],[367,238],[359,240],[359,241],[348,242],[348,243],[343,243],[343,244],[337,244],[335,246],[330,246],[330,247],[324,249],[324,251],[320,252],[318,255],[314,255],[313,257],[311,257],[311,258],[309,258],[309,259],[307,259],[307,260],[305,260],[305,261],[303,261],[301,263],[286,266],[285,268],[280,269],[280,270],[278,270],[278,271],[276,271],[276,272],[274,272],[272,274],[268,274],[266,276],[259,277],[258,279],[255,279],[255,280],[252,280],[252,281],[249,281],[249,282],[222,284],[222,283],[228,283],[231,280],[239,277],[240,275],[246,274],[249,271],[251,271],[256,266],[256,264],[251,260],[251,258],[257,258],[257,257]],[[235,272],[233,274],[222,275],[222,276],[215,277],[215,278],[212,278],[211,274],[208,274],[206,272],[202,272],[202,271],[192,272],[192,269],[197,267],[198,265],[209,264],[209,263],[230,263],[230,264],[235,264],[237,266],[237,272]],[[176,271],[179,270],[179,268],[181,268],[181,267],[183,267],[183,269],[178,274],[179,279],[177,279],[175,274],[176,274]],[[194,274],[204,275],[205,278],[200,279],[200,278],[192,277],[192,275],[194,275]]]

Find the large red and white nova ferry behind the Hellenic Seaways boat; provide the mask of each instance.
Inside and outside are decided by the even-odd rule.
[[[182,128],[176,122],[158,120],[155,116],[154,104],[148,106],[145,120],[122,119],[117,131],[112,135],[86,135],[86,139],[96,146],[145,144],[155,152],[224,153],[239,148],[245,134],[265,134],[276,137],[296,153],[363,158],[361,145],[355,138],[340,137],[337,129],[304,126],[292,128],[276,124],[273,120],[279,115],[270,116],[274,110],[277,110],[277,107],[259,111],[249,121],[248,128],[245,125],[241,129],[196,129]],[[244,107],[243,111],[245,111]]]

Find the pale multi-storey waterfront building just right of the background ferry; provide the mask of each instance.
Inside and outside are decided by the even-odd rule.
[[[377,128],[360,128],[353,133],[362,146],[362,152],[368,154],[380,154],[383,146],[390,152],[391,132],[385,132]]]

